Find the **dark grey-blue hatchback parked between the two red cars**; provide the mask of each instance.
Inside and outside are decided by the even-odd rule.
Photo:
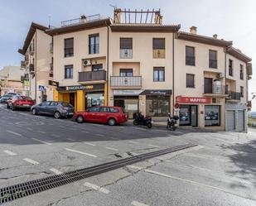
[[[73,117],[75,108],[70,103],[46,101],[31,107],[31,113],[34,115],[45,114],[56,117]]]

